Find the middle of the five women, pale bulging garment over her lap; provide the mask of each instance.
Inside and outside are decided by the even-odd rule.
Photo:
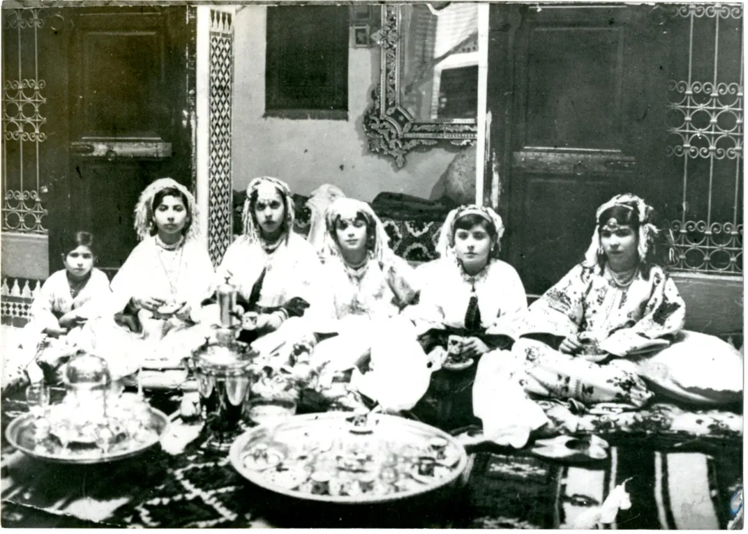
[[[417,295],[414,271],[392,252],[381,220],[366,202],[337,199],[325,221],[321,259],[327,292],[324,304],[310,309],[309,322],[323,341],[310,364],[324,367],[323,381],[336,372],[368,368],[372,372],[358,380],[365,394],[387,409],[409,408],[430,375],[411,322],[399,319]],[[379,387],[379,377],[387,378],[385,387]]]

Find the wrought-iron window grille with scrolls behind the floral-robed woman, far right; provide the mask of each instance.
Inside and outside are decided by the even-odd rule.
[[[670,21],[666,155],[682,177],[675,270],[743,273],[743,7],[682,4]]]

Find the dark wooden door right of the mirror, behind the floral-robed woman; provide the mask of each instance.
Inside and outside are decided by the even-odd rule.
[[[528,294],[583,258],[602,202],[661,197],[667,51],[647,9],[491,5],[486,181]]]

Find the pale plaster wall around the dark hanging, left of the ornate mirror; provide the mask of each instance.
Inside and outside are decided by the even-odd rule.
[[[233,181],[241,190],[255,176],[277,176],[294,193],[321,184],[370,202],[391,191],[429,198],[458,148],[408,154],[397,170],[393,158],[367,148],[364,111],[379,79],[379,50],[349,49],[349,119],[264,119],[266,7],[246,5],[235,19]]]

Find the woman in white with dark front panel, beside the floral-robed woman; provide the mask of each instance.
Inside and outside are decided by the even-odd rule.
[[[468,205],[451,211],[438,241],[441,258],[427,266],[420,303],[405,311],[438,371],[424,402],[437,404],[432,408],[440,413],[432,417],[442,425],[471,420],[475,363],[489,351],[511,346],[512,320],[527,308],[517,272],[497,259],[503,230],[491,208]]]

